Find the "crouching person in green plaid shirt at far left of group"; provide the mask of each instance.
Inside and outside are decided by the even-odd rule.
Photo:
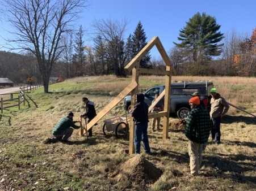
[[[58,141],[66,141],[70,136],[72,136],[73,128],[79,129],[80,126],[75,125],[75,122],[73,121],[73,112],[70,112],[68,116],[65,116],[64,118],[61,118],[58,123],[54,126],[52,130],[52,134]],[[80,125],[81,125],[81,121]],[[71,128],[73,127],[73,128]],[[54,139],[54,138],[53,138]],[[52,142],[53,142],[52,139]]]

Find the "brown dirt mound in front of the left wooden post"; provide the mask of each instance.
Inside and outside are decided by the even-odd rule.
[[[117,182],[127,179],[133,184],[148,185],[157,181],[162,175],[162,171],[150,163],[140,154],[127,160],[112,173]]]

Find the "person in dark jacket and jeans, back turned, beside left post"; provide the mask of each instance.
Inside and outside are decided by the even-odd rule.
[[[144,150],[147,154],[150,153],[148,139],[148,105],[144,102],[144,94],[136,94],[137,104],[133,110],[129,110],[129,114],[133,117],[135,123],[135,154],[140,154],[140,142],[143,141]]]

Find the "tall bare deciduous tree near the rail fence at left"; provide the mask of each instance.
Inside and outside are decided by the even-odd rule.
[[[15,49],[35,55],[44,92],[48,93],[49,78],[64,46],[63,34],[73,31],[86,0],[3,0],[2,7],[14,31]]]

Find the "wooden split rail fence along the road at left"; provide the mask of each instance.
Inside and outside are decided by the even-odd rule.
[[[25,92],[30,92],[32,89],[40,88],[43,85],[30,85],[30,86],[23,86],[19,88],[19,93],[6,93],[6,94],[0,94],[2,95],[10,95],[10,99],[3,99],[1,98],[0,107],[1,107],[1,114],[3,113],[3,110],[7,110],[7,108],[10,107],[16,107],[18,106],[20,110],[20,105],[23,103],[25,105]],[[14,98],[15,94],[19,94],[18,98]]]

